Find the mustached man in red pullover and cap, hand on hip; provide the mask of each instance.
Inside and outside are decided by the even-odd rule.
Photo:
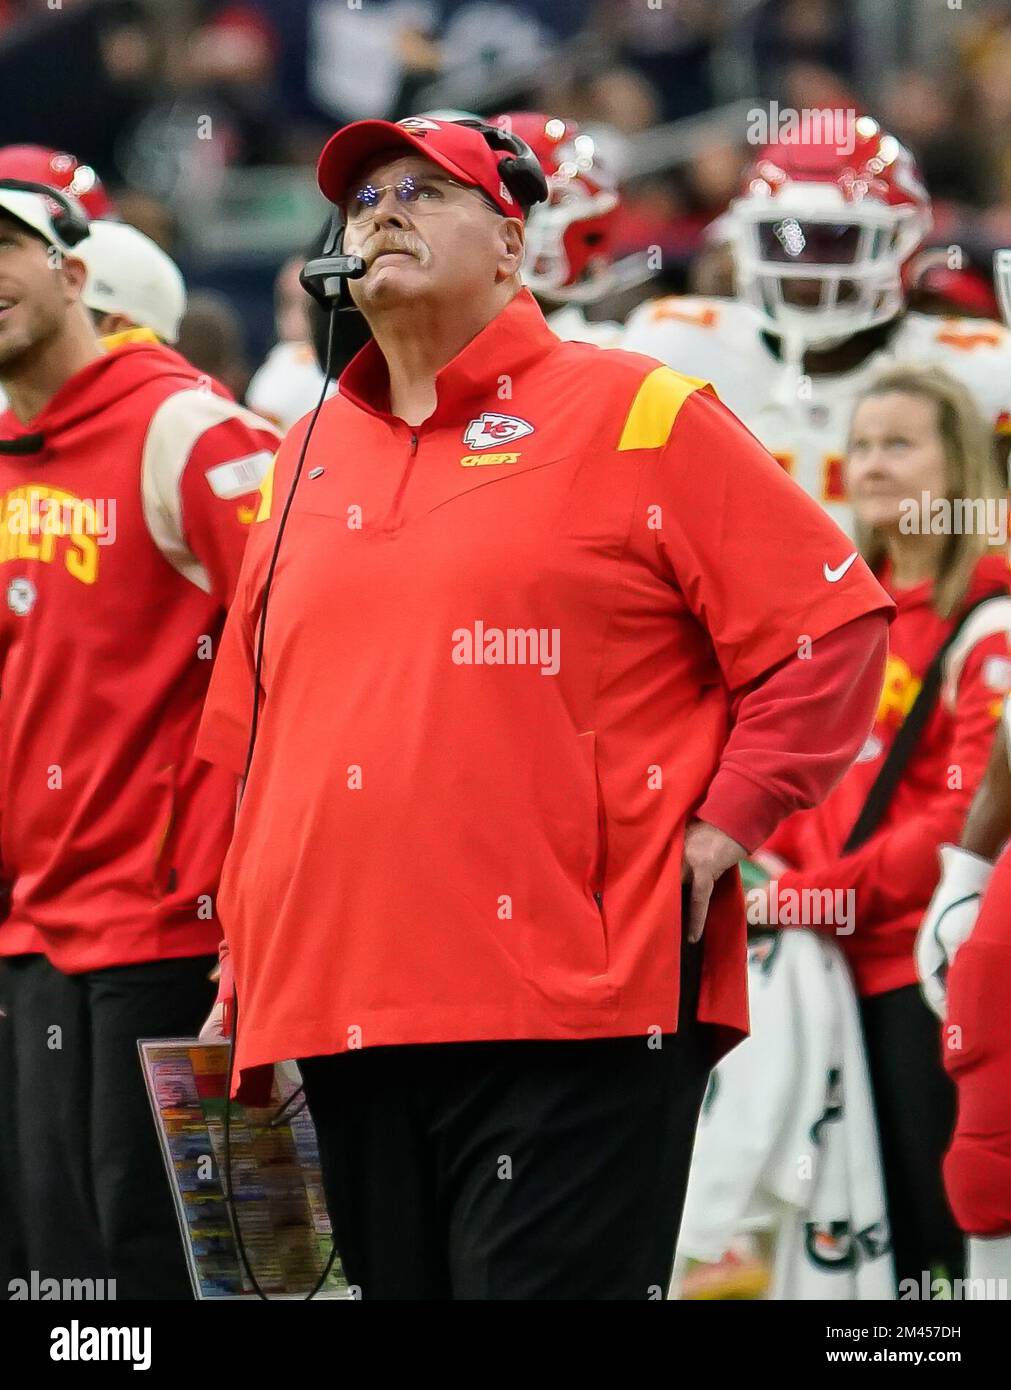
[[[278,453],[200,734],[243,774],[263,634],[236,1063],[300,1059],[366,1298],[663,1297],[747,1030],[734,865],[880,688],[890,605],[847,538],[702,382],[547,327],[535,167],[427,117],[324,152],[374,341],[261,626],[306,423]]]

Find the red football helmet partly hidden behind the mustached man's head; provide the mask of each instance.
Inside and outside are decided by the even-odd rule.
[[[548,202],[527,214],[523,281],[559,303],[590,303],[612,288],[617,188],[591,135],[541,111],[508,111],[492,125],[526,140],[548,177]]]

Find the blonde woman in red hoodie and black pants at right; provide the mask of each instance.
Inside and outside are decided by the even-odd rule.
[[[827,888],[851,908],[836,940],[861,1001],[901,1297],[925,1272],[962,1275],[941,1183],[954,1095],[914,945],[937,849],[958,840],[1011,684],[1007,493],[968,391],[918,366],[889,370],[858,399],[846,484],[861,553],[897,606],[884,688],[847,776],[765,853],[777,870],[770,903],[786,890],[801,905],[826,901],[812,894]]]

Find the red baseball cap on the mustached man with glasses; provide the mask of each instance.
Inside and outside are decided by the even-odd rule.
[[[339,203],[355,170],[382,150],[398,146],[424,154],[446,174],[471,188],[480,188],[506,217],[523,217],[523,208],[499,174],[506,150],[492,150],[480,131],[456,121],[435,121],[428,115],[407,115],[402,121],[352,121],[323,147],[317,179],[324,197]]]

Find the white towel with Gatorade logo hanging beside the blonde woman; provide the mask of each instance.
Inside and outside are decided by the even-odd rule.
[[[748,951],[751,1037],[716,1068],[679,1268],[775,1236],[770,1298],[894,1298],[857,999],[834,942],[790,930]]]

